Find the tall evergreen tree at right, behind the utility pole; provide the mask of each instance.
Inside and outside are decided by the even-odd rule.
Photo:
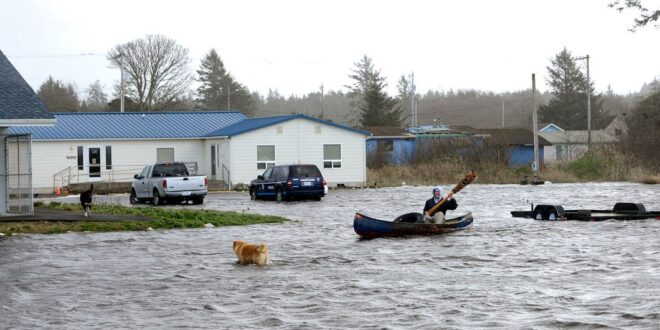
[[[541,122],[554,123],[563,129],[587,129],[587,90],[591,90],[591,126],[602,126],[608,120],[601,96],[593,93],[593,82],[578,68],[571,53],[564,48],[550,61],[547,79],[552,98],[539,108]]]

